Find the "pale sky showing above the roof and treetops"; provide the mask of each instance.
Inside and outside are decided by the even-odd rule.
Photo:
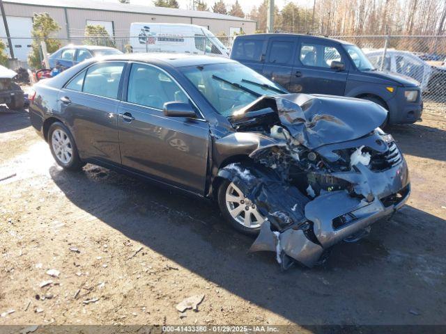
[[[111,1],[111,2],[117,2],[118,0],[99,0],[99,1]],[[192,0],[177,0],[178,4],[180,5],[180,8],[182,9],[192,9]],[[215,3],[215,0],[203,0],[208,4],[208,7],[211,8],[213,4]],[[224,0],[224,2],[229,5],[228,7],[236,2],[236,0]],[[249,13],[252,10],[252,7],[257,6],[259,7],[263,0],[238,0],[240,5],[243,8],[243,11],[245,13]],[[297,0],[297,1],[289,1],[289,0],[275,0],[275,5],[279,7],[279,9],[282,9],[286,5],[286,3],[294,2],[298,6],[312,6],[313,1],[312,0]],[[130,0],[130,3],[132,5],[144,5],[144,6],[153,6],[152,0]]]

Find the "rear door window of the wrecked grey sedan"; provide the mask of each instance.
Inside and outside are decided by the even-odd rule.
[[[124,63],[98,63],[89,67],[84,79],[84,93],[118,98]]]

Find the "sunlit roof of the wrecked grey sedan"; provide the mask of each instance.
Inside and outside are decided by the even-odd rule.
[[[153,52],[151,54],[135,53],[135,54],[118,54],[113,56],[104,56],[101,60],[107,61],[141,61],[144,63],[165,63],[174,67],[208,65],[216,63],[237,63],[229,58],[217,56],[199,56],[190,54],[167,54],[161,52]]]

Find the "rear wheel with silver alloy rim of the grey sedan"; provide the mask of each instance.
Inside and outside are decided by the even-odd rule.
[[[66,170],[80,170],[85,165],[79,158],[75,138],[61,122],[54,122],[48,131],[49,150],[56,163]]]

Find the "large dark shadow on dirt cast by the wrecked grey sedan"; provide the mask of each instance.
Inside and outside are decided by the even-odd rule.
[[[367,239],[335,246],[323,267],[282,273],[273,253],[248,253],[252,239],[226,227],[210,202],[91,165],[50,175],[77,207],[126,237],[302,326],[446,319],[445,221],[414,207]]]

